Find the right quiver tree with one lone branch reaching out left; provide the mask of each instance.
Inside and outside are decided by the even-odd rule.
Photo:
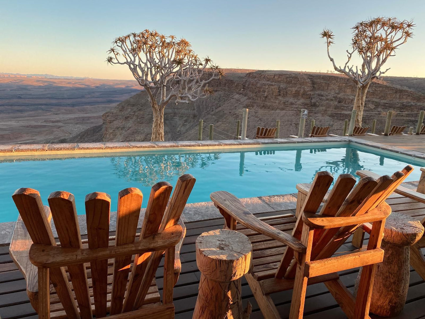
[[[389,70],[388,68],[381,71],[381,67],[389,57],[395,55],[395,50],[399,46],[413,36],[412,29],[414,26],[413,21],[399,21],[396,18],[387,17],[377,17],[357,23],[352,28],[354,31],[351,51],[347,50],[348,59],[343,68],[337,67],[329,53],[329,47],[334,43],[333,32],[325,29],[320,33],[322,38],[326,38],[328,57],[335,71],[345,74],[357,86],[353,107],[357,110],[356,125],[362,125],[366,93],[371,81],[379,79],[382,74]],[[353,65],[348,65],[354,53],[358,54],[363,60],[360,69],[357,66],[354,68]]]

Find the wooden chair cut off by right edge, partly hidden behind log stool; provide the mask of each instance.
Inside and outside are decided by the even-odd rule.
[[[394,193],[407,197],[408,199],[412,199],[410,203],[406,206],[415,206],[418,203],[425,204],[425,168],[421,168],[422,176],[419,181],[419,185],[416,191],[405,188],[403,186],[399,186],[394,190]],[[376,177],[376,174],[371,171],[357,171],[357,175],[360,177]],[[406,207],[407,208],[407,207]],[[405,209],[400,211],[403,214],[411,214],[411,211]],[[413,213],[412,216],[416,214]],[[416,217],[418,218],[418,217]],[[425,227],[425,217],[419,217],[421,224]],[[364,233],[369,232],[370,225],[362,225],[359,229],[354,232],[353,235],[353,245],[357,248],[361,248],[363,246]],[[411,246],[410,248],[410,265],[414,268],[414,270],[425,280],[425,257],[421,251],[422,248],[425,248],[425,236],[422,236],[419,241]]]

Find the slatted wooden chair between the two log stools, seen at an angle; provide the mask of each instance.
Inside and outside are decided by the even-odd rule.
[[[264,318],[287,316],[278,312],[270,295],[290,289],[293,293],[289,318],[302,318],[306,286],[319,282],[326,285],[348,318],[369,318],[374,272],[383,258],[383,226],[391,213],[385,199],[404,178],[401,171],[392,177],[368,177],[353,188],[356,179],[342,174],[316,214],[333,181],[329,172],[319,172],[297,219],[292,214],[257,218],[232,194],[212,193],[225,227],[240,231],[251,240],[253,268],[245,277]],[[373,223],[368,249],[332,256],[366,220]],[[360,266],[363,271],[355,298],[337,272]]]

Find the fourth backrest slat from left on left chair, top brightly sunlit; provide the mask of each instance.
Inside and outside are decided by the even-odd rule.
[[[115,246],[134,242],[142,199],[142,192],[137,188],[126,188],[119,192]],[[118,257],[113,263],[111,315],[122,311],[130,264],[131,255]]]

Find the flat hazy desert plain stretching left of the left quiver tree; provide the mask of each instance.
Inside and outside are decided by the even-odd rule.
[[[0,76],[0,143],[41,143],[102,123],[135,81]]]

